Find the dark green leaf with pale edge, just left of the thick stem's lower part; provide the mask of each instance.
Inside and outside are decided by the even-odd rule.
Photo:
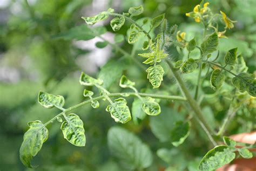
[[[178,147],[185,141],[187,136],[190,134],[191,123],[177,121],[171,131],[171,142],[172,145]]]

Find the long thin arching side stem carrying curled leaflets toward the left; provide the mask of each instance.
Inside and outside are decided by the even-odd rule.
[[[123,93],[110,93],[107,94],[108,97],[120,97],[122,96]],[[161,95],[161,94],[147,94],[147,93],[134,93],[134,92],[127,92],[125,93],[127,95],[132,95],[132,96],[137,96],[137,94],[139,94],[141,97],[152,97],[152,98],[157,98],[157,99],[166,99],[166,100],[180,100],[180,101],[186,101],[186,98],[180,97],[180,96],[176,96],[176,95]],[[80,102],[79,104],[69,107],[67,109],[60,109],[60,110],[64,110],[63,112],[57,114],[55,117],[53,117],[52,119],[50,119],[48,122],[45,122],[44,126],[49,125],[52,121],[56,120],[58,117],[60,117],[61,115],[63,115],[63,113],[75,110],[78,107],[81,107],[83,105],[88,104],[91,101],[95,101],[95,100],[100,100],[100,99],[104,99],[105,95],[100,95],[99,97],[96,98],[92,98],[90,100],[86,100],[83,102]]]

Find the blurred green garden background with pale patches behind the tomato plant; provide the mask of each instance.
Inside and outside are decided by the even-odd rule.
[[[227,16],[238,21],[234,29],[226,32],[229,38],[221,39],[220,53],[224,54],[231,47],[238,47],[247,63],[248,72],[255,72],[256,1],[208,2],[214,12],[225,11]],[[192,18],[186,17],[185,13],[192,11],[193,7],[199,3],[200,1],[187,0],[1,0],[0,170],[32,170],[26,169],[19,161],[19,147],[23,140],[23,133],[28,129],[27,122],[31,120],[46,122],[59,112],[55,108],[50,110],[43,108],[37,103],[39,90],[64,95],[65,107],[78,104],[84,100],[84,87],[78,82],[80,72],[85,71],[97,77],[100,74],[100,67],[103,67],[105,71],[112,70],[115,73],[103,74],[105,79],[116,78],[109,83],[111,92],[123,91],[118,87],[118,80],[122,73],[125,73],[136,81],[139,90],[143,88],[145,92],[166,93],[164,87],[159,91],[151,90],[145,71],[140,70],[129,59],[118,61],[122,55],[113,51],[109,45],[98,49],[95,43],[99,39],[66,40],[55,39],[54,35],[85,24],[81,19],[82,16],[93,16],[108,8],[123,12],[130,6],[143,4],[142,17],[153,17],[165,13],[169,26],[178,24],[179,30],[185,31],[186,36],[192,38],[197,33],[201,34],[203,27],[195,23]],[[118,33],[126,34],[129,28],[129,24],[126,24]],[[109,20],[99,25],[106,26],[108,32],[103,36],[112,41],[114,35]],[[132,51],[132,46],[127,43],[120,46],[128,52]],[[175,56],[177,51],[173,50],[171,54]],[[121,63],[122,67],[120,67]],[[186,84],[193,90],[193,77],[190,75],[186,78]],[[177,86],[172,84],[173,78],[164,80],[166,85],[171,87],[173,94],[180,94]],[[96,90],[93,88],[93,91]],[[131,106],[133,99],[127,100]],[[207,105],[208,101],[213,101],[214,106]],[[213,127],[220,125],[229,103],[221,94],[213,93],[204,99],[203,110],[208,114],[207,118],[213,123]],[[49,140],[44,143],[42,150],[33,160],[33,163],[39,165],[36,170],[123,170],[107,148],[107,131],[113,125],[129,129],[151,147],[154,162],[146,170],[164,170],[165,168],[195,170],[200,157],[206,152],[202,147],[208,147],[207,139],[197,128],[193,129],[188,140],[178,148],[173,148],[164,140],[168,133],[163,133],[162,130],[168,130],[174,121],[185,118],[187,115],[187,110],[181,108],[181,102],[162,100],[162,113],[158,117],[146,118],[140,124],[130,121],[126,125],[114,122],[110,114],[105,112],[105,107],[106,102],[101,101],[100,107],[96,110],[86,105],[74,111],[84,121],[87,142],[82,148],[72,146],[63,139],[59,122],[49,125]],[[236,121],[232,122],[228,133],[251,131],[255,121],[255,117],[250,115],[252,112],[255,112],[255,105],[239,110]],[[196,126],[197,124],[193,127]]]

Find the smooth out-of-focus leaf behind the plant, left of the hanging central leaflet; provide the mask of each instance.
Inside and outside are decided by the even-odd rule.
[[[128,62],[126,59],[116,60],[112,59],[100,69],[98,78],[104,81],[102,85],[109,89],[113,83],[120,79],[124,70],[126,70]]]

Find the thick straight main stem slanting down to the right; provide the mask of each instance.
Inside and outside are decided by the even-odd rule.
[[[173,76],[176,78],[177,83],[181,89],[181,91],[183,92],[183,94],[185,95],[185,97],[187,98],[187,102],[188,104],[190,104],[191,108],[193,109],[194,113],[196,114],[199,123],[201,125],[201,127],[204,129],[205,133],[207,134],[208,138],[210,139],[210,141],[212,142],[212,144],[214,146],[217,145],[217,143],[214,141],[212,134],[213,131],[210,127],[210,125],[206,122],[203,113],[201,112],[201,109],[199,107],[199,105],[197,104],[197,102],[192,98],[190,92],[187,90],[187,87],[185,86],[185,83],[183,82],[183,80],[181,79],[180,75],[178,72],[176,72],[176,70],[174,69],[172,63],[170,61],[167,61],[167,64],[169,64],[170,69],[173,73]]]

